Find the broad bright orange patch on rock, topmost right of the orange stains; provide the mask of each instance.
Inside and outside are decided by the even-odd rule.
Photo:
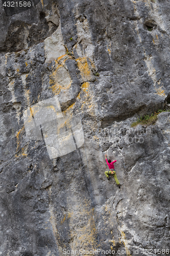
[[[78,59],[76,59],[76,61],[78,63],[78,68],[80,70],[83,81],[84,82],[88,81],[88,80],[90,81],[93,77],[93,74],[88,65],[87,58],[86,57],[78,58]]]

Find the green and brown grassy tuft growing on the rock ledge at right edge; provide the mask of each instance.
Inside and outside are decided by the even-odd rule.
[[[145,115],[144,117],[137,118],[136,122],[131,123],[131,127],[134,127],[138,124],[141,125],[151,125],[156,122],[158,119],[158,114],[161,112],[169,112],[169,110],[158,110],[158,112],[152,113],[151,116]]]

